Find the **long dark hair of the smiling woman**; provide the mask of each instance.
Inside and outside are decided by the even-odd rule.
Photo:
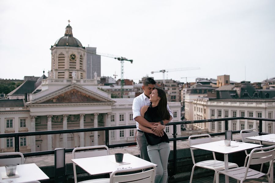
[[[167,110],[167,98],[165,91],[160,88],[156,88],[156,90],[158,90],[158,96],[160,97],[158,102],[158,115],[160,115],[163,120],[169,120],[170,114]]]

